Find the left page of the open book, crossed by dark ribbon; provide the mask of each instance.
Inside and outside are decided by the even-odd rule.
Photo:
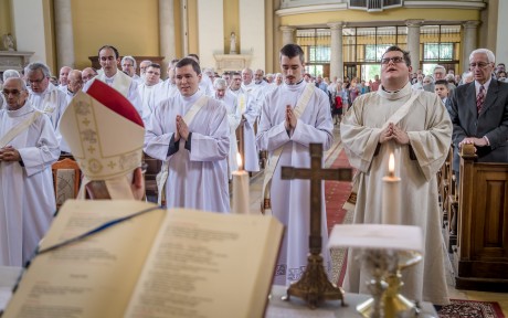
[[[41,250],[151,206],[66,201]],[[35,256],[2,317],[121,317],[165,215],[166,210],[147,212]]]

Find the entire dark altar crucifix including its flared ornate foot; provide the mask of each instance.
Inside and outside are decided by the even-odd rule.
[[[352,179],[352,169],[325,169],[321,167],[322,144],[310,144],[310,169],[282,167],[281,178],[288,179],[307,179],[310,180],[310,235],[309,250],[310,255],[307,259],[307,266],[300,280],[289,286],[287,289],[286,300],[290,296],[304,298],[310,308],[316,308],[324,300],[340,299],[343,303],[343,290],[335,287],[328,280],[325,273],[321,257],[321,180],[350,181]]]

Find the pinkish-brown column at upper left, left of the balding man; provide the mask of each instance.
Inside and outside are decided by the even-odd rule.
[[[71,0],[54,0],[56,35],[56,72],[62,66],[74,67],[74,30]]]

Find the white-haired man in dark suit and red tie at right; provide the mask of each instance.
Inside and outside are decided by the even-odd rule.
[[[479,162],[508,162],[508,83],[493,78],[494,53],[477,49],[469,55],[475,81],[454,89],[448,98],[456,149],[472,144]],[[458,155],[454,170],[458,170]]]

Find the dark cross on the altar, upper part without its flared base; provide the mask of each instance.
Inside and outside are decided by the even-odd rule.
[[[351,181],[352,169],[322,169],[322,144],[310,144],[310,169],[282,167],[282,179],[310,180],[310,253],[321,253],[321,180]]]

